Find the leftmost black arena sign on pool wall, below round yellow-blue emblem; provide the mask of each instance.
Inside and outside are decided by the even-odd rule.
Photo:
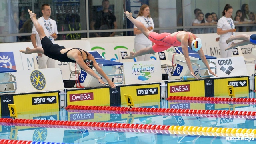
[[[32,105],[38,104],[56,104],[56,96],[41,96],[41,97],[32,97]]]

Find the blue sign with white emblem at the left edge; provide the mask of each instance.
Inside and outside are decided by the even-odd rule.
[[[13,52],[0,52],[0,66],[16,70]]]

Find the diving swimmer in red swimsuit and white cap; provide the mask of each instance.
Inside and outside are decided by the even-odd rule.
[[[142,31],[142,33],[150,39],[152,42],[154,42],[154,46],[143,48],[142,50],[139,50],[138,52],[131,52],[130,56],[126,56],[125,59],[132,59],[137,56],[141,56],[144,54],[154,54],[156,52],[162,52],[164,50],[167,50],[171,46],[181,46],[182,51],[188,66],[188,69],[190,70],[190,73],[192,76],[195,76],[193,72],[193,68],[191,65],[190,58],[188,56],[188,46],[192,48],[192,50],[198,52],[202,62],[204,62],[204,65],[209,70],[210,74],[216,76],[214,72],[210,69],[210,66],[208,65],[208,62],[206,60],[206,57],[204,56],[204,52],[201,49],[202,43],[201,39],[197,38],[195,34],[192,34],[191,32],[185,32],[185,31],[179,31],[174,32],[172,34],[170,33],[161,33],[158,34],[156,32],[149,31],[141,22],[134,19],[132,17],[132,13],[124,12],[127,16],[127,18],[135,25],[139,30]],[[217,76],[216,76],[217,77]],[[198,79],[198,78],[197,78]]]

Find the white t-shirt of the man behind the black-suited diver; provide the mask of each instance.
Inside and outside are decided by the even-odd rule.
[[[55,32],[56,34],[58,34],[57,24],[56,24],[55,20],[52,20],[49,18],[48,20],[45,20],[45,22],[44,22],[44,18],[40,17],[37,19],[37,21],[43,27],[44,33],[47,36],[47,38],[49,38],[52,41],[52,43],[54,43],[54,38],[52,38],[52,36],[50,36],[50,33],[53,34]],[[48,30],[46,28],[48,28]],[[38,32],[36,31],[34,24],[33,24],[31,33],[36,34],[36,45],[42,46],[40,37],[38,35]]]

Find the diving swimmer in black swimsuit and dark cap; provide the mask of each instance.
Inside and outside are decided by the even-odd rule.
[[[92,54],[79,49],[79,48],[65,48],[63,46],[59,46],[58,44],[53,44],[45,35],[44,29],[42,26],[38,23],[36,19],[36,14],[32,13],[32,11],[28,10],[28,13],[30,15],[31,20],[33,21],[36,31],[39,34],[39,37],[42,42],[42,46],[39,46],[37,48],[26,48],[26,50],[20,50],[20,52],[25,54],[32,54],[32,53],[42,53],[48,56],[49,58],[59,60],[61,62],[76,62],[85,72],[96,78],[101,84],[104,84],[104,82],[101,80],[101,78],[86,65],[86,59],[92,60],[93,64],[92,66],[95,68],[95,70],[103,77],[105,80],[107,80],[108,85],[111,88],[115,88],[115,84],[108,78],[108,76],[105,74],[105,72],[98,66],[97,62],[95,61],[95,58],[92,56]],[[105,84],[104,84],[105,85]]]

